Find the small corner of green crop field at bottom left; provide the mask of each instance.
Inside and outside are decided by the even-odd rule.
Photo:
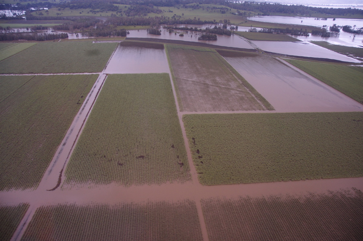
[[[29,204],[0,207],[0,240],[10,240],[23,218]]]

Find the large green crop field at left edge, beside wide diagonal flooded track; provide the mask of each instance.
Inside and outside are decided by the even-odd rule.
[[[18,79],[19,78],[19,79]],[[0,190],[41,180],[97,75],[1,76]]]

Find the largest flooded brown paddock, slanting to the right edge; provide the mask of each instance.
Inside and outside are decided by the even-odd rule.
[[[277,112],[363,111],[358,101],[285,61],[262,55],[225,59]]]

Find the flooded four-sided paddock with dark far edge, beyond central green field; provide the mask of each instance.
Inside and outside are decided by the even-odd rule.
[[[164,45],[123,41],[107,64],[107,74],[169,72]]]

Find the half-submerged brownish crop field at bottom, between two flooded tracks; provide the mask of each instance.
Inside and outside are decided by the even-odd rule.
[[[37,209],[27,240],[203,240],[193,201],[56,205]]]

